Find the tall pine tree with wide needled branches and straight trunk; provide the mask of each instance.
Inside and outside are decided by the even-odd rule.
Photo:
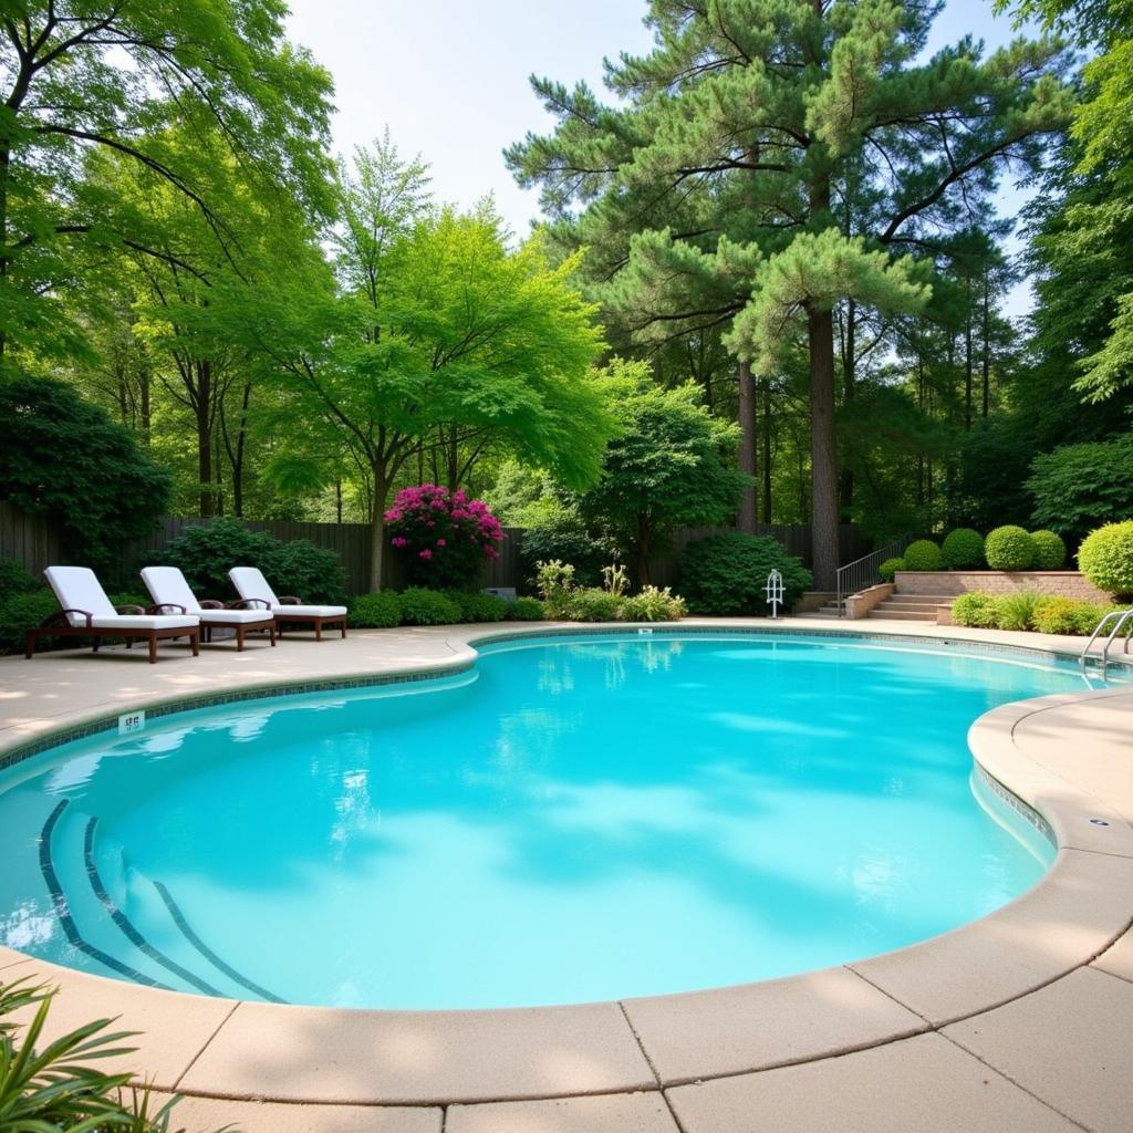
[[[935,6],[653,0],[654,50],[607,68],[621,105],[535,82],[559,119],[509,152],[561,228],[602,248],[642,327],[727,324],[756,373],[809,374],[816,583],[837,565],[834,307],[926,300],[908,254],[1008,162],[1036,168],[1071,96],[1049,42],[914,62]],[[742,381],[741,381],[742,385]],[[747,421],[744,421],[747,425]]]

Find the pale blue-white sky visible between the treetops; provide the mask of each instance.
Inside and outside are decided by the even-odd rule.
[[[487,194],[518,235],[539,216],[536,190],[520,189],[503,150],[552,126],[531,91],[534,73],[602,90],[603,58],[650,45],[644,0],[290,0],[290,39],[334,77],[334,143],[368,145],[389,127],[402,156],[432,165],[438,201],[469,207]],[[1013,33],[990,0],[948,0],[929,49],[972,34],[991,48]],[[1025,199],[1000,193],[1012,215]],[[1016,245],[1017,247],[1017,245]],[[1011,296],[1024,314],[1030,291]]]

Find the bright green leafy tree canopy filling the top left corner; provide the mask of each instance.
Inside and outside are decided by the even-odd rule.
[[[283,34],[280,0],[10,0],[0,20],[0,353],[79,344],[57,309],[109,248],[159,259],[87,177],[93,153],[145,169],[238,249],[211,152],[219,138],[265,197],[325,205],[330,78]],[[112,203],[112,202],[111,202]]]

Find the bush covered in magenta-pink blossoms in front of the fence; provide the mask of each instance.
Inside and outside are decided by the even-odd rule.
[[[499,559],[503,528],[483,500],[436,484],[404,488],[385,513],[390,543],[404,556],[406,580],[435,589],[476,586],[486,559]]]

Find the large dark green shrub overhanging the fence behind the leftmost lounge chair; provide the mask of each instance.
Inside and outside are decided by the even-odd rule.
[[[129,429],[61,382],[0,382],[0,499],[59,525],[71,557],[95,569],[148,535],[169,501],[169,474]]]

